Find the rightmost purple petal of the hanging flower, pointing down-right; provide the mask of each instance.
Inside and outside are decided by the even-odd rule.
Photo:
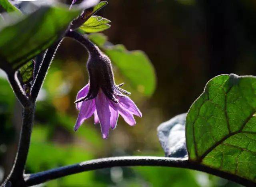
[[[119,105],[122,108],[125,108],[126,110],[128,110],[130,113],[142,117],[142,113],[140,112],[140,110],[138,109],[138,107],[136,106],[136,104],[128,97],[118,97],[119,99]]]

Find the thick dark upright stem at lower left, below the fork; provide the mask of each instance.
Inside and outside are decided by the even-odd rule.
[[[28,156],[28,150],[30,147],[30,137],[32,132],[33,119],[34,104],[32,104],[28,108],[23,109],[22,130],[20,132],[18,152],[16,154],[12,171],[5,180],[7,186],[25,186],[23,172],[26,164],[26,159]]]

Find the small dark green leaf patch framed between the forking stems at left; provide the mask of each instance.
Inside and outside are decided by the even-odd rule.
[[[30,60],[28,63],[24,64],[20,69],[20,75],[22,77],[22,83],[26,84],[32,81],[34,71],[34,61]]]

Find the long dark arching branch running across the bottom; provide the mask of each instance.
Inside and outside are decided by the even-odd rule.
[[[150,156],[126,156],[126,157],[109,157],[102,159],[94,159],[89,161],[84,161],[74,165],[68,165],[64,167],[59,167],[56,169],[50,169],[48,171],[42,171],[39,173],[34,173],[25,176],[25,183],[27,186],[37,185],[44,183],[49,180],[58,179],[67,175],[72,175],[75,173],[81,173],[83,171],[92,171],[96,169],[103,169],[108,167],[116,166],[166,166],[166,167],[180,167],[187,169],[195,169],[198,171],[204,171],[230,181],[234,181],[241,185],[254,186],[255,183],[233,175],[226,173],[224,171],[219,171],[207,167],[205,165],[200,165],[198,163],[188,160],[188,158],[170,158],[170,157],[150,157]]]

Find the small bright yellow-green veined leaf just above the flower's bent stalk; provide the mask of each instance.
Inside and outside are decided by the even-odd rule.
[[[100,32],[110,28],[110,20],[101,16],[90,17],[80,28],[82,33]]]

